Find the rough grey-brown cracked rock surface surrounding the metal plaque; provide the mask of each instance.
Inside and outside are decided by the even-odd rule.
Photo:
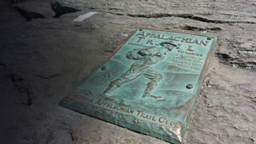
[[[167,143],[58,106],[140,27],[219,36],[184,143],[256,143],[256,1],[61,4],[82,11],[26,22],[1,5],[0,143]]]

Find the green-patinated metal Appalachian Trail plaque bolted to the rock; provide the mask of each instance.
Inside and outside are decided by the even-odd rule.
[[[216,40],[138,29],[60,105],[182,143]]]

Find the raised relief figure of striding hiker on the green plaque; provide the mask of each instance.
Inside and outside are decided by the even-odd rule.
[[[146,47],[145,49],[134,49],[126,54],[126,57],[131,60],[137,60],[132,63],[127,72],[122,74],[118,79],[112,81],[108,88],[103,92],[104,95],[109,96],[113,90],[122,86],[122,84],[132,81],[140,76],[145,76],[150,79],[147,83],[145,91],[141,98],[153,97],[155,99],[162,98],[161,96],[152,95],[151,93],[157,88],[159,82],[163,79],[163,76],[155,70],[152,65],[164,60],[166,52],[172,51],[174,47],[179,48],[180,45],[176,45],[173,42],[162,42],[160,47]]]

